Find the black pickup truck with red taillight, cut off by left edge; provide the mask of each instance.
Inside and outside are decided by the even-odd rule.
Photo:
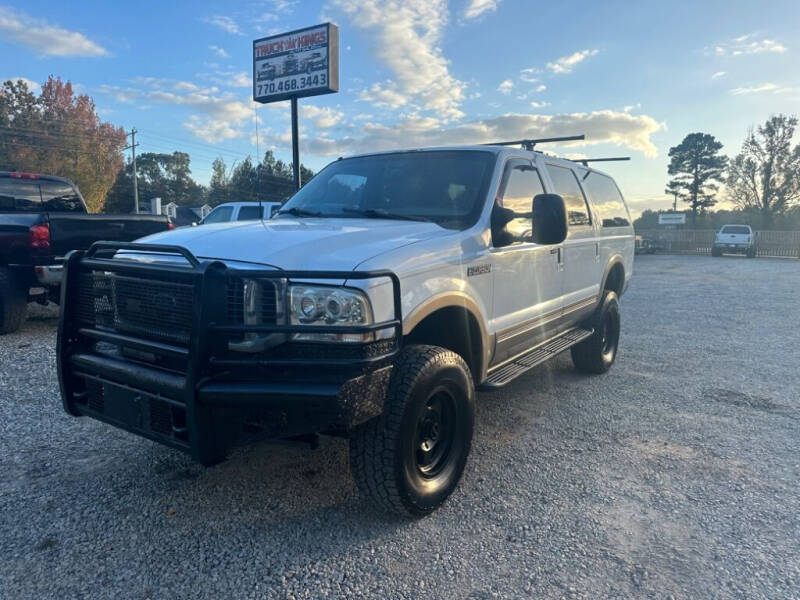
[[[171,227],[161,215],[90,215],[68,179],[0,171],[0,334],[19,329],[28,302],[58,302],[61,259],[70,250]]]

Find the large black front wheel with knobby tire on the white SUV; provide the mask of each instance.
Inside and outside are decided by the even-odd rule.
[[[464,360],[438,346],[409,346],[392,372],[383,413],[350,437],[362,496],[413,517],[455,490],[472,443],[475,388]]]

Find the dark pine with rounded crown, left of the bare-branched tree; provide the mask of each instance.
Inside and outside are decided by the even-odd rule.
[[[668,173],[673,177],[665,192],[677,194],[689,204],[694,220],[699,212],[716,204],[727,162],[727,157],[719,153],[721,149],[722,144],[707,133],[690,133],[669,149]]]

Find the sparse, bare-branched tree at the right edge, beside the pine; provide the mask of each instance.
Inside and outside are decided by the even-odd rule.
[[[750,131],[731,161],[728,197],[743,209],[757,210],[762,226],[800,202],[800,144],[792,148],[797,117],[775,115]]]

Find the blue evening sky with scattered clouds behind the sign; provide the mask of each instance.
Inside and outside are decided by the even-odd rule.
[[[668,152],[686,134],[734,155],[748,128],[800,112],[797,0],[25,0],[0,4],[0,78],[71,81],[104,120],[138,129],[138,152],[188,152],[207,183],[218,156],[229,169],[257,149],[291,160],[288,102],[252,101],[252,41],[324,22],[339,27],[339,92],[299,101],[315,170],[585,134],[540,149],[630,156],[603,170],[638,214],[671,205]]]

